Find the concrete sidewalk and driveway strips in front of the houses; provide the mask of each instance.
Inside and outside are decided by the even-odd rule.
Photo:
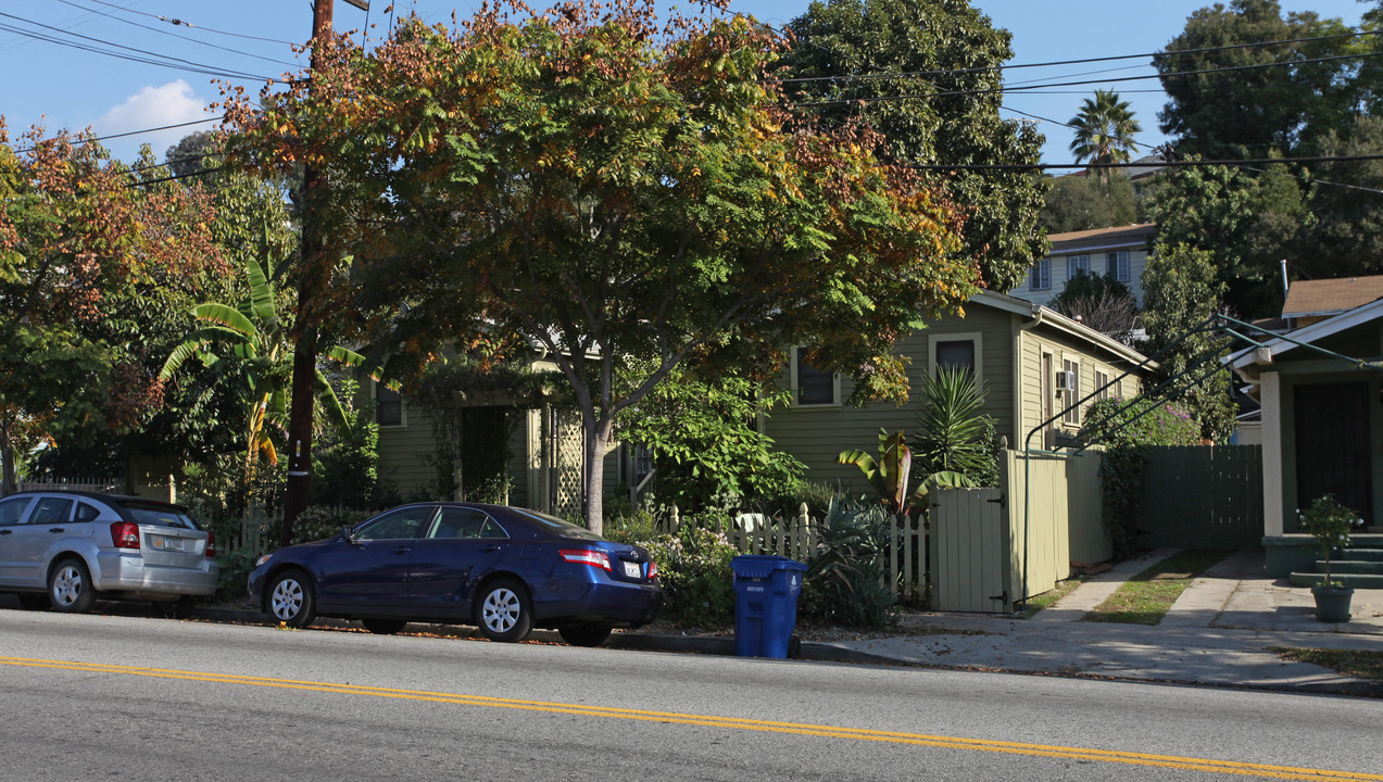
[[[1054,676],[1383,696],[1383,681],[1290,662],[1274,647],[1383,652],[1383,590],[1355,590],[1354,618],[1315,619],[1310,589],[1263,575],[1263,554],[1231,555],[1196,579],[1156,626],[1080,622],[1119,584],[1173,554],[1091,578],[1032,619],[910,613],[903,636],[828,645],[881,660]]]

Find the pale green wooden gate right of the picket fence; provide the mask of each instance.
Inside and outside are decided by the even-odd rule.
[[[1012,547],[1001,489],[932,492],[932,609],[1004,613],[1012,608]]]

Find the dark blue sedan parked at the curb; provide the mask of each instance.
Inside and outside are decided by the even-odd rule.
[[[508,506],[415,503],[328,540],[256,562],[250,602],[289,627],[360,619],[371,633],[408,622],[474,624],[494,641],[553,627],[593,647],[662,605],[649,551],[560,518]]]

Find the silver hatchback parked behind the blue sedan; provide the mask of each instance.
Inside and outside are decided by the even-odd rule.
[[[148,600],[185,615],[219,575],[216,539],[181,506],[86,492],[0,499],[0,593],[25,608]]]

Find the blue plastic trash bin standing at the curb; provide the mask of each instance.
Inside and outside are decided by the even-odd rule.
[[[806,565],[787,557],[744,554],[730,560],[730,568],[734,569],[734,654],[787,658]]]

